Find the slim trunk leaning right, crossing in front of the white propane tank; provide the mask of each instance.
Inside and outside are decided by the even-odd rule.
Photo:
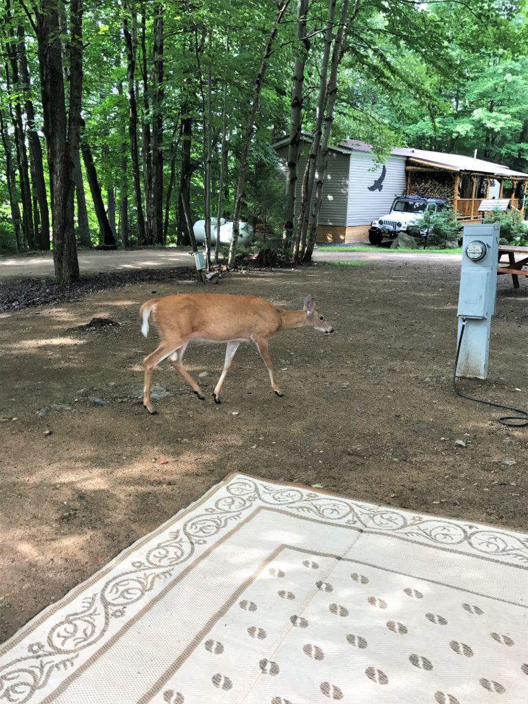
[[[268,69],[268,59],[271,56],[273,42],[275,41],[275,37],[279,29],[279,23],[282,20],[282,17],[286,12],[289,3],[290,0],[281,0],[279,8],[277,9],[277,15],[275,15],[275,21],[270,32],[270,37],[268,38],[268,44],[266,44],[264,56],[262,62],[260,63],[260,70],[258,71],[258,75],[256,77],[255,91],[253,94],[253,105],[251,106],[251,111],[249,113],[248,124],[246,126],[246,134],[244,136],[244,144],[242,146],[242,153],[239,163],[237,193],[234,197],[233,232],[231,237],[229,259],[227,261],[227,265],[230,268],[234,266],[234,260],[237,256],[237,242],[240,234],[239,218],[242,209],[242,201],[244,199],[244,187],[246,184],[246,170],[248,166],[249,147],[251,146],[251,137],[253,136],[255,116],[258,111],[258,105],[260,103],[260,94],[262,92],[265,73]]]

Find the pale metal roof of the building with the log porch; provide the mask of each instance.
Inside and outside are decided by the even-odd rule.
[[[351,151],[370,151],[370,144],[359,142],[357,139],[345,139],[340,142],[341,146]],[[494,164],[491,161],[475,159],[472,156],[462,156],[460,154],[445,154],[441,151],[427,151],[426,149],[411,149],[410,147],[398,147],[391,151],[393,156],[406,156],[410,161],[415,161],[422,165],[446,169],[449,171],[470,172],[489,174],[491,176],[528,178],[528,174],[522,171],[513,171],[503,164]]]

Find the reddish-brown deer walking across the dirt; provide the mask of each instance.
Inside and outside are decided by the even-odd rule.
[[[275,380],[268,340],[279,330],[313,327],[320,332],[334,332],[332,325],[315,310],[313,296],[306,296],[303,310],[287,310],[274,306],[264,298],[236,294],[173,294],[151,298],[139,310],[144,337],[149,334],[149,318],[158,328],[161,343],[144,358],[145,372],[143,405],[151,414],[157,413],[151,403],[151,383],[154,367],[168,359],[172,367],[191,386],[194,394],[205,400],[199,384],[183,366],[183,356],[189,342],[225,342],[225,361],[220,379],[213,391],[215,403],[221,403],[220,391],[230,370],[234,353],[241,342],[256,344],[268,369],[273,391],[284,396]]]

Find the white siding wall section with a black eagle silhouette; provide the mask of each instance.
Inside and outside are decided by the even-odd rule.
[[[382,175],[384,167],[382,190],[370,191],[369,186]],[[406,157],[387,156],[384,164],[377,164],[371,154],[354,151],[349,182],[346,225],[370,225],[372,220],[389,213],[394,196],[406,193]]]

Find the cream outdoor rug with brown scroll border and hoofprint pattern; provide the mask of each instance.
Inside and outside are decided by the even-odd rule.
[[[0,703],[528,702],[528,536],[232,474],[0,647]]]

